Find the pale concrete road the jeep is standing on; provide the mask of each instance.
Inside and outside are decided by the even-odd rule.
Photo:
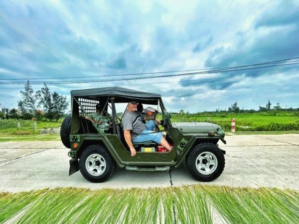
[[[227,136],[226,166],[208,185],[278,187],[299,190],[299,134]],[[80,172],[68,176],[68,149],[60,142],[1,142],[0,192],[55,187],[132,188],[198,184],[185,165],[170,172],[127,172],[117,168],[104,183],[90,183]]]

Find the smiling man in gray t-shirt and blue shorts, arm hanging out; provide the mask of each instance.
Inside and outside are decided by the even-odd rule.
[[[130,148],[131,156],[136,155],[136,150],[133,146],[133,142],[154,141],[161,144],[166,149],[171,151],[171,146],[168,144],[165,138],[163,138],[161,132],[152,131],[155,125],[154,120],[149,120],[146,124],[143,123],[144,116],[137,111],[137,101],[130,100],[128,102],[128,110],[125,112],[122,124],[124,128],[124,137]]]

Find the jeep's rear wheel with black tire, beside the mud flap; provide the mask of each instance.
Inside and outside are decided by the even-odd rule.
[[[90,145],[83,150],[79,159],[79,168],[86,180],[100,183],[111,177],[116,164],[107,149],[103,145],[96,144]]]

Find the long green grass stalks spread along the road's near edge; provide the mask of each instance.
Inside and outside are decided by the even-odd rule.
[[[299,192],[209,185],[0,193],[0,223],[298,223]]]

